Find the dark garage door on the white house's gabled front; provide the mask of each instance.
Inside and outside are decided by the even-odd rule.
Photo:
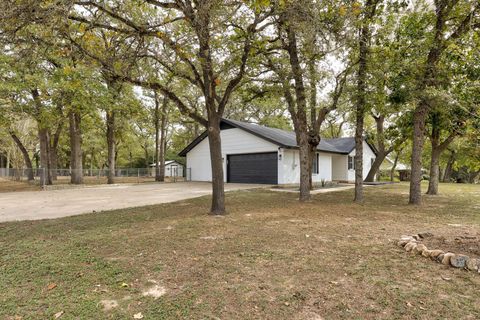
[[[227,156],[227,181],[236,183],[278,183],[277,153]]]

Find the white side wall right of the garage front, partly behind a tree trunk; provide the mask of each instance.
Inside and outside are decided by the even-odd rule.
[[[300,154],[295,149],[281,149],[282,160],[278,162],[278,184],[300,182]],[[319,152],[319,173],[313,174],[312,181],[332,180],[332,155]]]

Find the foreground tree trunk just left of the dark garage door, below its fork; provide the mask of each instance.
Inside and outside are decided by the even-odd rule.
[[[208,142],[212,167],[212,207],[210,212],[214,215],[222,215],[225,213],[225,190],[220,118],[212,114],[209,114]]]

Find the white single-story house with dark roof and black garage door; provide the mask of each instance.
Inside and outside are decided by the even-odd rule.
[[[246,122],[223,119],[221,124],[225,182],[298,184],[299,152],[295,133]],[[186,157],[192,181],[211,181],[207,132],[190,143]],[[363,142],[363,177],[375,160],[375,149]],[[313,182],[354,181],[354,138],[322,139],[313,163]]]

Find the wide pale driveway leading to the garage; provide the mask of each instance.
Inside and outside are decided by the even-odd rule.
[[[258,187],[262,186],[228,183],[225,191]],[[53,219],[174,202],[211,194],[211,188],[206,182],[179,182],[0,193],[0,222]]]

